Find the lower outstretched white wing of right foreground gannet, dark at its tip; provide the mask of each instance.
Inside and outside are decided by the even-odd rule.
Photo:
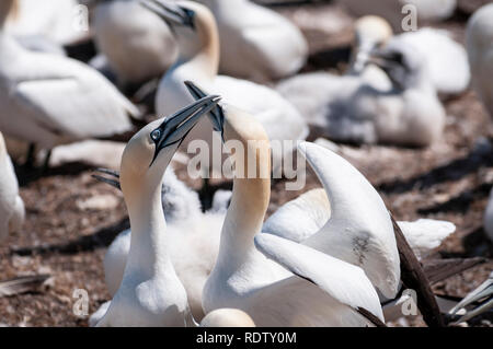
[[[291,278],[290,282],[309,281],[359,313],[354,316],[364,316],[374,325],[385,322],[377,291],[362,268],[272,234],[257,234],[255,246],[267,258],[299,277]]]

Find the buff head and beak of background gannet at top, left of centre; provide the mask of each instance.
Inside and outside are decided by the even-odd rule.
[[[205,5],[193,1],[140,0],[173,30],[181,60],[193,58],[210,39],[219,45],[216,20]]]

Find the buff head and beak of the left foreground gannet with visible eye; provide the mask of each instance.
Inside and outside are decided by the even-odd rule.
[[[126,199],[160,188],[176,149],[218,101],[217,95],[200,98],[170,117],[150,123],[130,139],[121,164],[121,186]]]

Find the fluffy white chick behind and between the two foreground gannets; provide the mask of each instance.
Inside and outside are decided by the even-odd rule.
[[[171,168],[163,177],[161,203],[167,220],[167,234],[173,243],[170,258],[183,283],[194,318],[204,316],[202,289],[213,270],[219,249],[219,239],[226,209],[202,212],[198,195],[179,181]],[[130,249],[131,232],[116,236],[104,257],[104,276],[110,294],[117,291]]]

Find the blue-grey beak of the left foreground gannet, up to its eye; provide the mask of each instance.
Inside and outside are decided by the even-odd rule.
[[[152,141],[156,143],[152,163],[164,148],[171,146],[180,147],[200,117],[216,107],[219,101],[220,97],[218,95],[209,95],[164,118],[164,121],[150,133]]]

